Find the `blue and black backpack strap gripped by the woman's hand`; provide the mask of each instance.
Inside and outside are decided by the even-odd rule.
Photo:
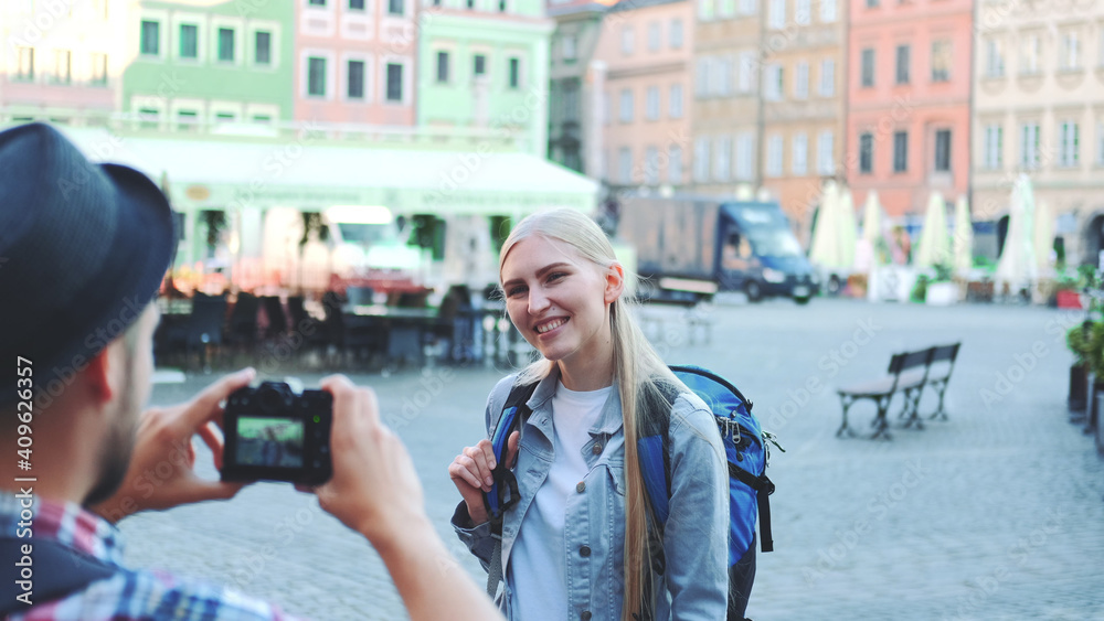
[[[521,500],[518,478],[513,475],[510,465],[506,463],[510,435],[516,429],[520,429],[529,416],[533,414],[527,401],[537,390],[537,382],[516,384],[510,388],[510,395],[506,398],[506,405],[502,407],[502,415],[498,417],[495,432],[491,435],[491,447],[495,451],[495,469],[491,471],[491,479],[495,482],[489,492],[484,492],[484,502],[487,503],[487,513],[490,515],[490,533],[495,538],[495,549],[487,568],[487,595],[491,599],[495,599],[498,583],[502,581],[502,520],[506,512]]]

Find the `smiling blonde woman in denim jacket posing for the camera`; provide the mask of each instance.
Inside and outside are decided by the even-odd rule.
[[[538,383],[532,414],[508,441],[520,501],[503,515],[499,563],[482,496],[496,465],[490,440],[466,447],[448,469],[464,499],[453,517],[458,536],[485,567],[502,569],[499,607],[523,621],[724,619],[720,435],[635,324],[608,239],[577,212],[534,214],[502,245],[499,277],[510,320],[541,354],[488,399],[490,436],[511,388]],[[662,535],[649,537],[637,439],[657,428],[668,429],[671,513]]]

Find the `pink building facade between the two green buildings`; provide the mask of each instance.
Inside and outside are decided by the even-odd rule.
[[[294,0],[296,120],[413,126],[415,0]]]

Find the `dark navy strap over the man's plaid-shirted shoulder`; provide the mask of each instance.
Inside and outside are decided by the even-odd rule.
[[[83,590],[88,585],[110,578],[119,571],[98,558],[75,550],[64,544],[51,539],[15,539],[0,537],[0,558],[19,559],[23,557],[22,546],[33,546],[32,557],[34,571],[32,606],[64,598]],[[13,571],[12,579],[4,579],[0,585],[0,615],[7,617],[23,612],[30,608],[22,600],[15,599],[23,591],[17,585],[19,567],[9,565],[8,571]],[[7,572],[7,571],[6,571]],[[10,591],[10,592],[9,592]]]

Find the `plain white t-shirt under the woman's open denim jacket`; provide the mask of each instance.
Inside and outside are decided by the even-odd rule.
[[[567,543],[563,538],[567,495],[574,494],[590,468],[583,447],[613,386],[576,393],[562,383],[552,396],[552,429],[555,459],[548,479],[533,496],[521,520],[510,550],[510,585],[514,593],[514,619],[563,621],[567,618]]]

